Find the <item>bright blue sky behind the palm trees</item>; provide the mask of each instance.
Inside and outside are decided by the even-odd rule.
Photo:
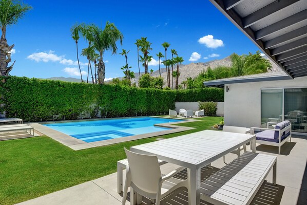
[[[151,55],[164,53],[163,42],[170,43],[183,57],[183,64],[223,59],[238,54],[256,52],[258,48],[209,1],[24,1],[33,7],[16,25],[7,28],[8,44],[15,44],[12,60],[16,60],[11,75],[35,78],[79,78],[75,65],[75,43],[70,28],[75,23],[96,24],[104,28],[106,21],[114,23],[123,33],[123,45],[118,53],[130,50],[128,63],[138,71],[136,39],[142,36],[152,43]],[[79,52],[87,47],[80,39]],[[205,59],[204,59],[205,58]],[[106,78],[122,77],[120,67],[125,58],[106,52]],[[87,60],[80,57],[82,70],[87,72]],[[152,64],[155,64],[152,62]],[[162,65],[163,67],[163,65]],[[149,69],[158,69],[157,63]],[[143,69],[141,69],[142,71]]]

